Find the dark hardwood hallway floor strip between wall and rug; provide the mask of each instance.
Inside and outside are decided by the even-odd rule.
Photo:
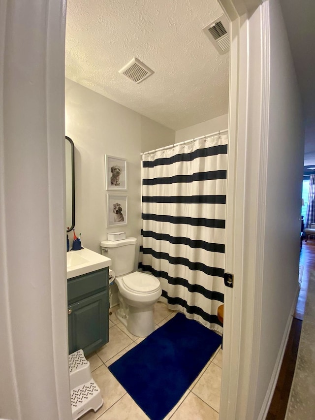
[[[284,359],[281,365],[277,386],[266,420],[283,420],[285,417],[300,341],[310,270],[315,270],[314,240],[308,240],[308,242],[303,241],[300,254],[300,266],[303,266],[301,289],[295,308],[289,339],[285,348]]]

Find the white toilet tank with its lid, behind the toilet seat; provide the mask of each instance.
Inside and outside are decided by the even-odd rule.
[[[126,238],[121,241],[102,241],[100,243],[102,255],[111,258],[110,268],[116,276],[122,276],[133,271],[136,244],[136,238]]]

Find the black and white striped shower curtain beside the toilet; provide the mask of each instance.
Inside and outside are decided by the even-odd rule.
[[[139,268],[170,309],[221,332],[227,134],[145,154]]]

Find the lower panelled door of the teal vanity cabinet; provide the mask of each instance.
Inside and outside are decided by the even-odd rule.
[[[108,343],[107,290],[73,303],[68,309],[71,312],[68,317],[69,353],[82,349],[88,355]]]

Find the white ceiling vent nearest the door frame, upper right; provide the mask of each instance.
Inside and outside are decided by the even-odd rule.
[[[221,15],[218,19],[203,28],[203,32],[205,32],[220,54],[225,54],[229,51],[230,25],[225,15]]]

